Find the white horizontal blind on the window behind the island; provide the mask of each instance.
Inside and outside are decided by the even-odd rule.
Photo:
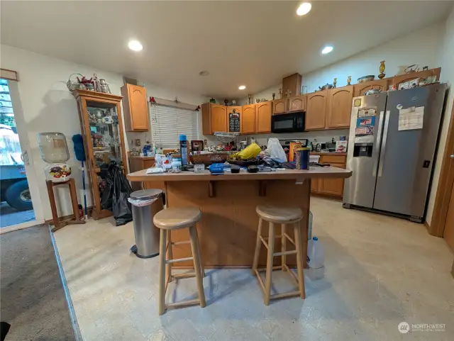
[[[184,134],[187,140],[198,140],[199,121],[197,111],[170,106],[150,104],[151,129],[153,142],[157,147],[179,147],[179,135]]]

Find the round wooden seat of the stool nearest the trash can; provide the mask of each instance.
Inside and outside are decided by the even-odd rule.
[[[199,208],[166,208],[155,214],[153,223],[163,230],[177,230],[178,228],[188,228],[199,222],[200,219]]]

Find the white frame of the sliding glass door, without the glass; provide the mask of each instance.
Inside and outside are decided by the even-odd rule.
[[[1,78],[6,79],[5,77]],[[35,167],[33,167],[33,156],[31,154],[30,142],[28,140],[26,120],[23,116],[23,108],[21,96],[19,94],[18,81],[14,79],[8,79],[8,86],[11,95],[11,103],[13,104],[14,120],[16,121],[16,128],[19,135],[19,144],[21,145],[22,155],[26,153],[26,155],[28,156],[28,160],[24,160],[23,164],[26,169],[28,188],[30,189],[31,199],[33,203],[33,212],[35,213],[35,220],[6,226],[5,228],[0,229],[0,234],[11,232],[13,230],[20,230],[22,228],[29,228],[31,226],[41,225],[44,223],[43,205],[41,203],[38,180],[35,174]]]

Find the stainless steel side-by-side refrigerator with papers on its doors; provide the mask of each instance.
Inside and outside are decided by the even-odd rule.
[[[343,207],[423,221],[445,93],[433,84],[353,99]]]

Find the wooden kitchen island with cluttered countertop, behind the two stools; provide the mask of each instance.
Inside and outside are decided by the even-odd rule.
[[[211,175],[209,171],[145,174],[145,169],[127,175],[130,181],[163,181],[167,207],[197,207],[202,219],[197,224],[201,257],[205,267],[251,267],[258,216],[255,207],[259,204],[298,206],[304,213],[301,220],[303,255],[306,255],[307,228],[311,179],[335,179],[351,177],[352,172],[337,167],[311,167],[309,170],[285,169],[277,172],[259,172]],[[316,217],[315,217],[316,218]],[[266,235],[266,225],[262,229]],[[277,232],[278,233],[278,232]],[[293,237],[293,236],[292,236]],[[189,240],[187,229],[172,231],[172,241]],[[276,240],[275,250],[280,248]],[[260,253],[260,265],[266,264],[265,247]],[[172,247],[176,258],[189,257],[189,245]],[[280,257],[275,257],[279,264]],[[306,262],[306,259],[304,259]],[[179,263],[192,267],[192,262]],[[294,255],[287,257],[289,266],[296,265]]]

